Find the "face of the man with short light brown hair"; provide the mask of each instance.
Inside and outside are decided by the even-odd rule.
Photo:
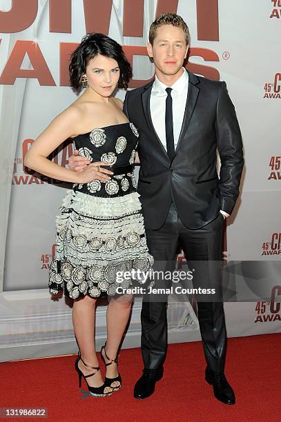
[[[165,75],[179,72],[188,48],[184,31],[173,25],[157,28],[153,46],[147,45],[148,56],[153,58],[156,70]]]

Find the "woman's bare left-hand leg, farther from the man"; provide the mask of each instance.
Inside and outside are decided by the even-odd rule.
[[[98,367],[97,354],[95,351],[95,308],[97,300],[86,295],[83,298],[75,299],[72,308],[72,321],[75,331],[81,358],[87,365]],[[95,370],[87,368],[80,360],[79,369],[84,375],[92,374]],[[88,385],[91,387],[99,387],[104,383],[101,372],[97,371],[95,376],[87,378]],[[104,392],[112,391],[106,387]]]

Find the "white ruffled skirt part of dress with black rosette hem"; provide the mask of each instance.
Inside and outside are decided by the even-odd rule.
[[[68,190],[56,219],[50,292],[64,290],[72,299],[86,294],[114,296],[117,287],[133,285],[132,279],[120,274],[150,270],[153,257],[146,245],[141,208],[137,192],[103,198]]]

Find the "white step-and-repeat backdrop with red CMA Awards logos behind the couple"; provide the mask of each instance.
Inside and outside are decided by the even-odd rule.
[[[146,54],[148,29],[162,12],[184,18],[191,32],[186,67],[226,81],[240,122],[245,168],[238,203],[224,228],[224,261],[235,261],[235,274],[244,261],[256,261],[257,268],[267,261],[273,272],[280,261],[280,0],[0,0],[3,360],[77,350],[71,302],[52,301],[47,289],[55,216],[69,186],[23,165],[32,141],[77,98],[68,86],[69,54],[86,32],[108,34],[133,65],[129,89],[142,86],[154,74]],[[117,92],[120,99],[124,95]],[[71,154],[66,141],[52,159],[67,166]],[[271,282],[267,274],[260,279],[262,299],[231,301],[230,295],[225,303],[229,336],[281,332],[281,279]],[[170,342],[200,340],[196,306],[189,299],[169,299]],[[136,299],[124,347],[139,345],[140,308]],[[97,343],[106,336],[105,311],[103,304],[97,309]]]

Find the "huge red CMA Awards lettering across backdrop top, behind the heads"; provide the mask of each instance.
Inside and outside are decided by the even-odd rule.
[[[195,0],[194,0],[195,1]],[[113,0],[83,0],[71,2],[70,0],[49,0],[49,32],[59,34],[72,33],[72,8],[84,8],[84,21],[86,32],[101,32],[108,34],[112,16]],[[80,5],[81,3],[81,5]],[[155,16],[163,12],[177,12],[179,0],[158,0]],[[184,2],[186,3],[186,2]],[[123,37],[144,36],[144,0],[123,2]],[[188,14],[188,8],[186,8]],[[38,0],[14,0],[12,8],[8,11],[0,10],[1,33],[22,32],[35,23],[38,14]],[[219,41],[219,14],[218,0],[196,0],[197,14],[197,39],[198,41]],[[41,17],[40,17],[41,18]],[[67,37],[67,36],[66,36]],[[0,39],[0,43],[1,43]],[[42,40],[44,43],[46,40]],[[70,54],[78,43],[61,42],[52,45],[52,59],[59,57],[59,86],[69,86],[68,63]],[[7,48],[8,46],[3,46]],[[133,66],[134,56],[147,56],[144,46],[123,46],[128,61]],[[23,59],[28,57],[32,68],[21,68]],[[204,61],[220,61],[219,56],[208,48],[191,48],[189,58],[201,57]],[[188,62],[186,66],[191,72],[202,74],[204,77],[219,80],[220,73],[217,69],[203,64]],[[52,64],[53,68],[53,64]],[[37,40],[17,40],[14,43],[8,61],[3,68],[0,84],[13,85],[17,78],[37,79],[41,86],[56,86],[52,72],[43,56],[40,43]],[[148,79],[149,80],[149,79]],[[129,88],[137,88],[147,83],[148,80],[133,79]]]

